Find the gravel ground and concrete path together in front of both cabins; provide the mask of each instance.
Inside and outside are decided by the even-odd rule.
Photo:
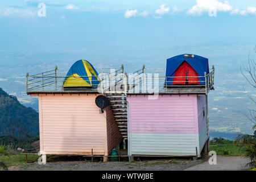
[[[58,161],[60,160],[60,161]],[[9,167],[10,171],[225,171],[246,169],[249,160],[241,156],[217,156],[217,164],[210,165],[208,159],[143,159],[134,162],[89,162],[49,160],[45,165],[34,163]]]

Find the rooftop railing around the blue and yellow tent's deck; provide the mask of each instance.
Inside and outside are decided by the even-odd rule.
[[[97,92],[98,82],[105,83],[100,84],[102,92],[106,90],[112,90],[114,85],[121,82],[123,77],[123,65],[121,68],[97,68],[99,76],[68,76],[68,85],[64,86],[64,81],[67,75],[67,70],[55,69],[36,75],[26,75],[26,92],[27,93],[39,93],[39,92]],[[88,86],[79,83],[81,78],[88,80]],[[97,78],[97,79],[94,79]],[[106,78],[110,81],[106,81]],[[97,82],[95,83],[95,81]],[[93,83],[94,82],[94,83]],[[66,89],[67,88],[67,89]],[[70,88],[70,89],[69,89]]]

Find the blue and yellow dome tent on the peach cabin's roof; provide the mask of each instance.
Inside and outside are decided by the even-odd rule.
[[[89,61],[76,61],[63,81],[64,89],[93,89],[100,83],[98,72]]]

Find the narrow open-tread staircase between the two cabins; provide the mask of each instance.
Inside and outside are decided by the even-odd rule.
[[[123,93],[108,93],[110,105],[124,140],[127,140],[127,96]]]

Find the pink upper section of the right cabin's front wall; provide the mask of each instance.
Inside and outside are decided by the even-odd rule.
[[[129,95],[127,101],[130,133],[198,133],[196,95]]]

